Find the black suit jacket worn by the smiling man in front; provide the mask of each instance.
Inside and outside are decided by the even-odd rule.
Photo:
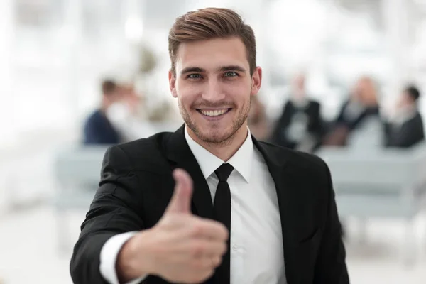
[[[253,143],[265,158],[277,190],[288,284],[349,283],[327,165],[313,155],[255,138]],[[72,255],[74,283],[106,283],[99,272],[102,246],[115,234],[148,229],[158,222],[173,195],[174,168],[184,168],[194,180],[192,212],[212,218],[209,187],[183,127],[109,148],[99,189]],[[167,282],[149,276],[144,283]]]

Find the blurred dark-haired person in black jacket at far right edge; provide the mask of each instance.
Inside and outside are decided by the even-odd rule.
[[[406,87],[400,94],[394,113],[384,125],[386,147],[408,148],[425,139],[417,106],[419,97],[420,92],[414,86]]]

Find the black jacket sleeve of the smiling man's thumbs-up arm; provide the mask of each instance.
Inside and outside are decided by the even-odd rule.
[[[126,153],[119,146],[104,155],[101,181],[81,226],[70,273],[75,284],[107,283],[100,273],[100,253],[111,236],[144,229],[141,190]]]

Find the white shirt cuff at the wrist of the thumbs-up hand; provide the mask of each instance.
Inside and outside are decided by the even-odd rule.
[[[121,247],[126,244],[126,241],[129,241],[132,236],[135,236],[137,231],[129,231],[128,233],[118,234],[112,236],[105,244],[102,246],[101,250],[101,265],[99,270],[101,271],[102,277],[107,280],[110,284],[119,284],[119,278],[117,277],[116,272],[116,261],[117,256]],[[140,283],[147,275],[143,275],[141,278],[131,280],[126,284],[137,284]]]

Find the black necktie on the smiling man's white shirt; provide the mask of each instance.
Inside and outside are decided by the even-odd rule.
[[[234,170],[234,167],[226,163],[222,164],[214,171],[217,178],[219,178],[213,204],[214,219],[222,222],[229,231],[228,249],[222,259],[222,264],[217,268],[215,273],[216,284],[229,284],[230,282],[231,254],[229,251],[229,244],[231,240],[231,190],[229,190],[229,185],[226,180],[228,180],[232,170]]]

